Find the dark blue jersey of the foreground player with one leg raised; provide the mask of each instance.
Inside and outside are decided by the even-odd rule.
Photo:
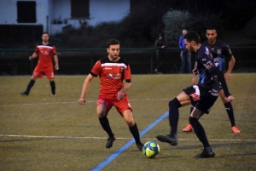
[[[218,89],[218,78],[212,72],[216,69],[212,54],[205,46],[201,46],[195,53],[196,68],[199,74],[198,85],[208,89]]]

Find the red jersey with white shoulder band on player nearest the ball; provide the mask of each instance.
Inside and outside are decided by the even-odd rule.
[[[98,60],[90,74],[100,77],[101,94],[117,94],[124,87],[123,80],[131,83],[131,69],[126,60],[120,58],[113,62],[108,57]]]

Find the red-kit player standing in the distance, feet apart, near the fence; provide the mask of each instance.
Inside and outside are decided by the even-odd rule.
[[[39,55],[38,65],[33,71],[32,78],[26,87],[26,91],[20,92],[21,95],[28,95],[38,77],[42,78],[44,75],[49,79],[52,96],[56,95],[52,56],[55,60],[55,70],[59,70],[58,56],[56,54],[55,46],[49,43],[49,34],[47,32],[43,33],[42,40],[43,42],[37,44],[35,52],[28,58],[29,60],[32,60]]]

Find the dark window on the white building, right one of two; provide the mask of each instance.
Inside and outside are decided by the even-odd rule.
[[[72,19],[88,19],[89,17],[89,0],[71,0]]]

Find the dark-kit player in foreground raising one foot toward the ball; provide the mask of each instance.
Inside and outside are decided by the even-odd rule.
[[[171,134],[157,135],[156,138],[162,142],[171,145],[177,145],[177,123],[179,112],[178,108],[184,105],[192,104],[194,107],[190,113],[189,122],[195,129],[197,138],[204,146],[204,150],[195,157],[214,157],[215,152],[207,140],[207,134],[199,118],[205,113],[209,113],[212,105],[218,99],[218,82],[222,83],[226,100],[233,100],[229,89],[224,79],[224,75],[214,65],[212,54],[207,47],[201,46],[200,37],[195,31],[189,31],[184,35],[184,43],[189,52],[195,52],[196,67],[193,70],[194,74],[200,74],[197,85],[184,88],[181,94],[169,102],[169,123],[171,126]]]

